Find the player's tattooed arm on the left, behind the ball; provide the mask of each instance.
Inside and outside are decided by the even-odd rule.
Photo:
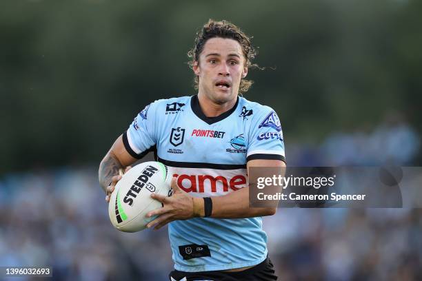
[[[111,186],[114,189],[114,185],[120,179],[119,169],[125,169],[136,161],[137,159],[125,149],[122,136],[119,136],[99,165],[99,183],[106,194],[110,193],[108,187]]]

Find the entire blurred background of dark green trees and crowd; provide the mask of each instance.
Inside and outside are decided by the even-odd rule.
[[[145,105],[195,94],[186,52],[209,18],[254,36],[267,68],[245,97],[279,113],[288,165],[421,166],[421,16],[416,0],[2,1],[0,266],[166,280],[166,229],[112,229],[97,167]],[[422,280],[421,215],[279,209],[264,228],[281,280]]]

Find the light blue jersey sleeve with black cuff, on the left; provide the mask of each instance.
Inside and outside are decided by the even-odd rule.
[[[123,133],[123,144],[128,153],[137,159],[154,150],[157,145],[155,125],[157,101],[147,105],[134,118],[127,131]]]

